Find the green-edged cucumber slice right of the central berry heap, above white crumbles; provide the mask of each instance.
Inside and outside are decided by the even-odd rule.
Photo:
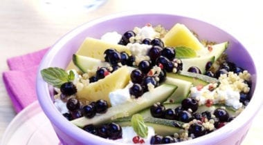
[[[190,81],[192,82],[193,86],[197,86],[197,85],[206,86],[207,84],[218,82],[218,80],[215,78],[193,73],[193,72],[167,73],[166,75],[167,77],[172,77],[174,79],[182,79],[185,81]]]

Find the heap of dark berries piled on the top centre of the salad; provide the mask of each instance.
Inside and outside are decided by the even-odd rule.
[[[135,37],[135,33],[131,30],[124,33],[119,44],[127,45],[130,43],[129,38]],[[176,52],[174,48],[164,47],[163,41],[161,39],[143,39],[141,42],[143,44],[152,45],[149,49],[148,56],[150,60],[140,61],[138,68],[131,72],[131,81],[134,83],[131,88],[129,88],[129,93],[135,98],[140,97],[143,93],[149,90],[148,84],[152,84],[154,87],[158,86],[165,80],[166,72],[177,72],[182,70],[183,64],[181,61],[176,61]],[[118,69],[118,63],[127,66],[135,66],[135,58],[132,55],[127,55],[126,52],[118,52],[117,50],[110,48],[105,50],[105,61],[109,62],[114,68]],[[161,72],[150,73],[149,71],[154,67],[159,66]]]

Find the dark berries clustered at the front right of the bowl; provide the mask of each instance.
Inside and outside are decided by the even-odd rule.
[[[224,124],[226,124],[226,122],[230,122],[231,120],[233,120],[233,117],[231,117],[228,114],[228,111],[224,108],[217,108],[213,113],[215,117],[212,117],[213,115],[208,110],[204,111],[203,113],[197,113],[196,111],[198,107],[199,106],[197,100],[189,97],[183,99],[183,101],[181,101],[181,105],[177,106],[176,108],[165,109],[165,106],[163,106],[163,104],[154,104],[153,106],[151,106],[150,112],[152,117],[176,120],[185,123],[191,122],[193,119],[196,119],[197,122],[194,122],[189,126],[188,137],[190,137],[191,135],[194,135],[194,137],[200,137],[202,135],[206,135],[207,133],[212,132],[202,125],[205,119],[213,119],[215,122],[215,128],[221,128],[222,126],[224,126]],[[151,138],[150,142],[151,144],[169,144],[174,142],[180,142],[180,138],[174,137],[174,135],[165,137],[161,135],[154,135]]]

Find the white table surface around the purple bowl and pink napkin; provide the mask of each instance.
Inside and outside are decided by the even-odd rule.
[[[66,1],[66,0],[65,0]],[[70,1],[70,0],[67,0]],[[80,0],[79,0],[80,1]],[[194,17],[219,26],[251,49],[256,63],[262,49],[263,10],[260,1],[171,1],[171,0],[109,0],[96,10],[57,5],[61,0],[1,0],[0,4],[0,74],[8,71],[6,59],[34,52],[53,45],[57,39],[93,19],[126,11],[169,12]],[[254,50],[252,50],[254,49]],[[257,65],[257,64],[256,64]],[[257,65],[257,70],[262,70]],[[259,79],[260,80],[260,79]],[[259,87],[260,88],[260,87]],[[0,139],[15,117],[3,80],[0,79]],[[259,144],[263,133],[263,110],[255,117],[244,144]]]

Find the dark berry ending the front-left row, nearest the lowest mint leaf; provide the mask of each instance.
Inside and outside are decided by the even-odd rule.
[[[120,125],[110,123],[107,127],[107,136],[109,139],[119,139],[123,136],[123,130]]]

